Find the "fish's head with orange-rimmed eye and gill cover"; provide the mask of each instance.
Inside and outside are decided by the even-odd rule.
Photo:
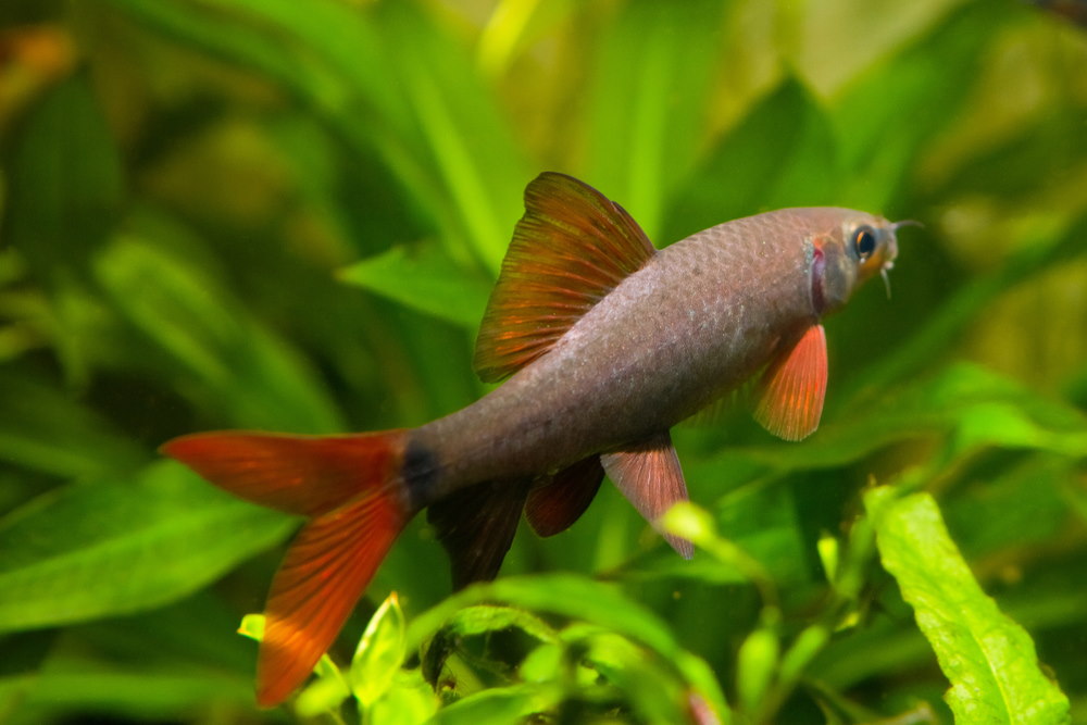
[[[834,210],[829,223],[812,237],[812,305],[817,315],[845,307],[853,291],[877,274],[887,282],[898,257],[899,224],[865,212]]]

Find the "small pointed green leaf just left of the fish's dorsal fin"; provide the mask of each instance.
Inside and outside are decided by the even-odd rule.
[[[393,247],[341,270],[339,278],[424,314],[479,326],[490,283],[463,272],[430,246]]]

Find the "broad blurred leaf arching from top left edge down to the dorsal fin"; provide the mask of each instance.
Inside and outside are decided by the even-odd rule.
[[[451,255],[498,271],[530,172],[470,53],[433,13],[414,2],[110,1],[283,84],[353,151],[383,160]]]

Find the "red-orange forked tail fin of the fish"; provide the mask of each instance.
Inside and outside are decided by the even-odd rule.
[[[257,702],[285,700],[336,639],[411,511],[407,434],[305,437],[204,433],[162,452],[254,503],[310,516],[272,582]]]

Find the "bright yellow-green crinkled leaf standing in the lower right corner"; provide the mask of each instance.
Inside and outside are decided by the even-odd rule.
[[[1041,671],[1029,635],[982,591],[927,493],[864,497],[884,567],[914,608],[962,723],[1065,723],[1069,701]]]

